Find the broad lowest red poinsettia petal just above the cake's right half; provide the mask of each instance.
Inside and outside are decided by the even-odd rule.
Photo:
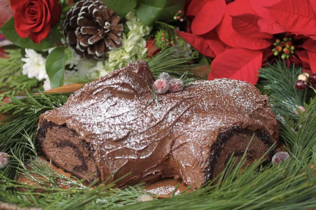
[[[229,78],[255,85],[262,64],[260,50],[231,49],[218,55],[211,63],[209,80]]]

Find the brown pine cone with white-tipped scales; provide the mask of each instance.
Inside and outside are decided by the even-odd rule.
[[[82,0],[67,13],[63,32],[78,55],[100,60],[107,51],[122,46],[120,20],[102,1]]]

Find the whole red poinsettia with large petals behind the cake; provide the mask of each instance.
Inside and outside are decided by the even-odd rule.
[[[256,84],[258,70],[273,54],[279,33],[302,43],[292,50],[282,48],[287,62],[316,72],[315,11],[314,0],[192,0],[186,11],[191,33],[178,34],[202,54],[214,57],[209,79]]]

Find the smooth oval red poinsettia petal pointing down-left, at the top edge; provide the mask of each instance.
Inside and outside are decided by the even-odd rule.
[[[225,0],[210,0],[195,16],[191,24],[191,30],[195,35],[201,35],[211,31],[217,26],[225,13]]]

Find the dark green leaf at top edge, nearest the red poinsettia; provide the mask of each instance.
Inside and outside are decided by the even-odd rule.
[[[184,9],[185,0],[140,0],[138,3],[137,17],[145,26],[151,26],[155,21],[173,20],[177,11]]]

